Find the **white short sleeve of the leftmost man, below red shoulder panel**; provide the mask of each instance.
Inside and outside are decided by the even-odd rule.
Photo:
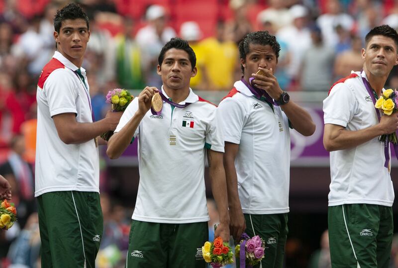
[[[66,69],[54,70],[48,76],[43,90],[46,94],[51,117],[61,113],[77,114],[78,89],[69,71]]]

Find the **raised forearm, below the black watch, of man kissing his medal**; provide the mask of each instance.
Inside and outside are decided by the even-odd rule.
[[[298,133],[304,136],[311,136],[315,132],[315,124],[311,115],[304,108],[293,101],[281,105],[281,108]]]

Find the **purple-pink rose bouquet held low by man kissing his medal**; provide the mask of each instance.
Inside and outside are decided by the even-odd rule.
[[[259,236],[250,238],[246,233],[241,236],[240,243],[235,247],[235,256],[242,267],[257,265],[264,259],[265,242]]]

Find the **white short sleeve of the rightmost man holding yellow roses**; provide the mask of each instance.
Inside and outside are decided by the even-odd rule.
[[[323,100],[324,123],[347,127],[354,116],[356,106],[352,90],[344,83],[337,84]]]

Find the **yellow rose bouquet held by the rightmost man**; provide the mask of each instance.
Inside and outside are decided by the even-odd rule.
[[[397,90],[387,89],[383,92],[380,98],[376,101],[375,107],[381,109],[384,114],[391,115],[398,111],[398,92]],[[398,144],[397,133],[385,134],[380,136],[381,142],[390,141],[393,144]]]

